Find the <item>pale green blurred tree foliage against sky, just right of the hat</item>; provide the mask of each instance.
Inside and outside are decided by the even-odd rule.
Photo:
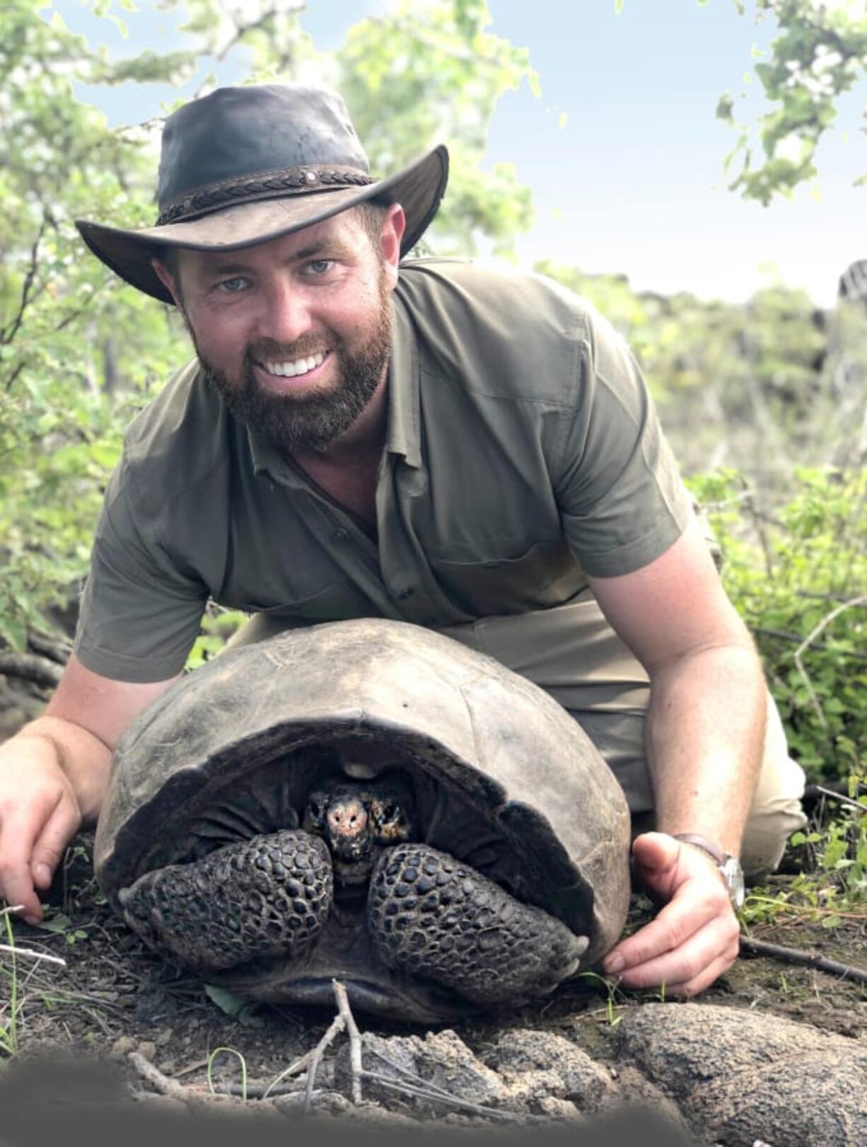
[[[497,101],[524,79],[538,87],[526,50],[486,32],[490,22],[486,0],[401,0],[351,29],[336,55],[337,87],[374,171],[448,142],[448,195],[425,236],[440,255],[474,255],[482,236],[508,253],[532,223],[530,190],[511,166],[481,166]]]

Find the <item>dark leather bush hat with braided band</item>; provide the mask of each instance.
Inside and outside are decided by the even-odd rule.
[[[335,92],[303,84],[221,87],[179,108],[163,130],[156,225],[134,231],[77,219],[100,259],[139,290],[172,298],[150,260],[161,247],[231,251],[377,200],[406,213],[401,252],[421,239],[448,178],[433,148],[376,180]]]

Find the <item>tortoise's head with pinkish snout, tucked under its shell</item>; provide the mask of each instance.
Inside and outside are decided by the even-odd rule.
[[[397,774],[370,781],[335,777],[311,789],[302,828],[321,836],[334,860],[335,879],[366,881],[383,848],[416,838],[414,798]]]

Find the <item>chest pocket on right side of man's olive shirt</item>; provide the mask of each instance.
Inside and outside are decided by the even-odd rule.
[[[523,614],[569,601],[587,578],[561,539],[539,541],[517,556],[474,562],[431,560],[443,590],[477,617]]]

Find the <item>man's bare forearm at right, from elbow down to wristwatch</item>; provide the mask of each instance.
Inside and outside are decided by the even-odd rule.
[[[698,833],[739,853],[766,713],[761,666],[747,646],[706,647],[651,677],[647,752],[661,832]]]

